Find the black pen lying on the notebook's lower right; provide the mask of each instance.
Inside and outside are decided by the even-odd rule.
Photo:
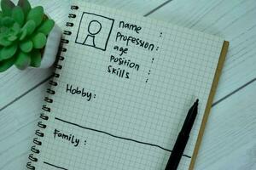
[[[185,150],[186,144],[189,140],[189,133],[195,122],[195,116],[197,115],[198,99],[196,99],[194,105],[189,109],[188,115],[186,116],[185,122],[180,133],[177,136],[176,142],[172,149],[171,156],[167,162],[166,170],[176,170],[183,151]]]

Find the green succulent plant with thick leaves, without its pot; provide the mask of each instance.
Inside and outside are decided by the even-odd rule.
[[[1,1],[0,11],[0,72],[12,65],[24,70],[38,67],[47,36],[55,25],[41,6],[32,8],[27,0],[15,6],[10,0]]]

